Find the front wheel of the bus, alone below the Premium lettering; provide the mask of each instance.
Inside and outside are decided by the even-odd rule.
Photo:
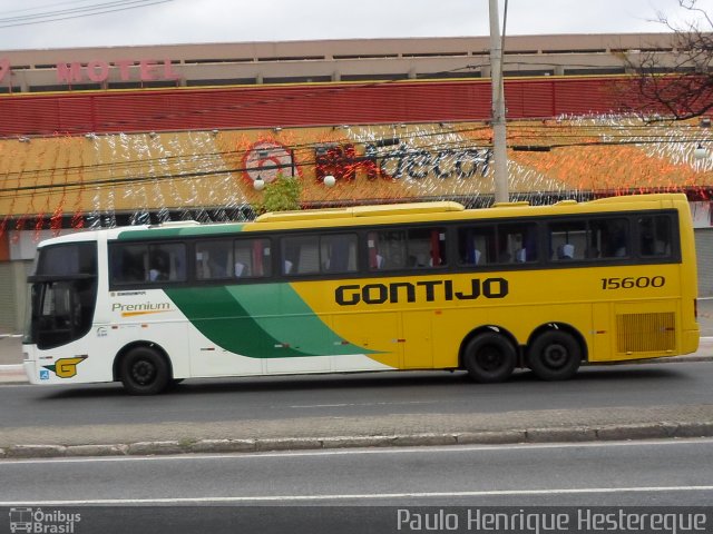
[[[130,395],[162,393],[168,386],[169,375],[166,359],[150,347],[134,347],[121,359],[121,384]]]

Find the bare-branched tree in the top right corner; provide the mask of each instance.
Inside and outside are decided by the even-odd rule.
[[[642,50],[625,58],[636,75],[634,95],[626,99],[633,111],[685,120],[713,108],[713,20],[697,1],[678,0],[688,19],[683,24],[657,13],[656,20],[672,31],[671,50]]]

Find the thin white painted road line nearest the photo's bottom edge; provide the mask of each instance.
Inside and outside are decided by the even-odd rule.
[[[583,495],[663,492],[710,492],[713,486],[632,486],[632,487],[573,487],[556,490],[484,490],[475,492],[422,492],[422,493],[354,493],[343,495],[253,495],[244,497],[166,497],[166,498],[90,498],[77,501],[0,501],[0,506],[70,506],[99,504],[203,504],[203,503],[266,503],[266,502],[323,502],[379,498],[442,498],[442,497],[492,497],[525,495]]]

